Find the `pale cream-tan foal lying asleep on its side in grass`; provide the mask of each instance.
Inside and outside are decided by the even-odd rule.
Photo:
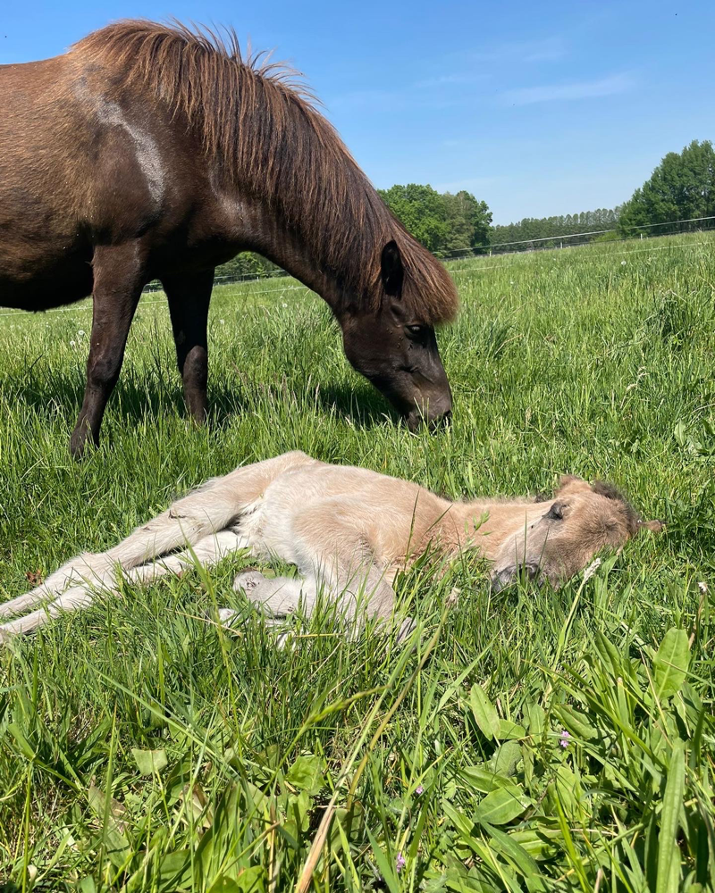
[[[475,549],[492,562],[495,588],[522,570],[558,585],[602,548],[619,549],[639,530],[660,527],[641,521],[610,485],[580,478],[562,478],[555,497],[543,501],[453,503],[408,480],[286,453],[209,480],[118,546],[64,564],[43,585],[0,605],[0,617],[43,605],[1,625],[0,635],[37,630],[87,607],[97,591],[116,592],[120,572],[148,583],[240,549],[298,566],[300,579],[249,571],[234,582],[274,615],[294,611],[299,601],[310,613],[322,590],[348,618],[360,604],[389,620],[396,573],[428,547],[447,560]],[[223,621],[230,617],[221,612]]]

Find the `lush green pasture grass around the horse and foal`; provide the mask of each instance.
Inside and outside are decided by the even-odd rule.
[[[668,522],[558,592],[492,596],[469,556],[412,572],[409,647],[328,616],[284,650],[249,612],[217,630],[201,616],[240,605],[237,558],[0,650],[0,889],[273,893],[311,854],[315,891],[715,889],[713,245],[455,264],[434,437],[349,371],[322,302],[273,280],[216,289],[203,430],[146,296],[102,447],[74,463],[90,305],[0,316],[0,598],[289,449],[455,497],[601,477]]]

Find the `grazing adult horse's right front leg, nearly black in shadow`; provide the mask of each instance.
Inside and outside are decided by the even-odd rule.
[[[208,380],[206,322],[211,289],[214,287],[214,271],[166,276],[162,285],[169,299],[176,362],[183,380],[184,400],[193,418],[204,421]]]

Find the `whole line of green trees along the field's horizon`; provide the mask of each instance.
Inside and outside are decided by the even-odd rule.
[[[491,248],[519,251],[524,245],[508,243],[534,241],[534,246],[550,247],[559,245],[559,237],[573,234],[583,234],[578,241],[592,241],[634,236],[645,227],[662,233],[671,230],[653,224],[715,216],[715,150],[710,140],[694,140],[680,153],[669,152],[644,185],[618,207],[525,217],[506,225],[492,225],[489,206],[466,190],[441,193],[431,186],[408,183],[378,192],[409,232],[438,257],[486,253]],[[260,255],[246,252],[217,272],[219,276],[262,276],[278,269]]]

